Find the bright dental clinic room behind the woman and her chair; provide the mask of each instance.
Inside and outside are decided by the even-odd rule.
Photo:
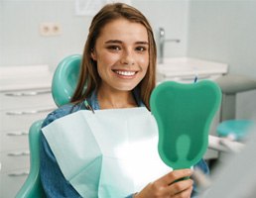
[[[29,132],[57,109],[54,73],[80,55],[100,0],[0,0],[0,197],[13,198],[32,171]],[[126,0],[149,19],[157,84],[215,82],[201,179],[205,198],[256,197],[256,1]],[[62,85],[60,85],[62,86]],[[31,148],[30,148],[31,147]]]

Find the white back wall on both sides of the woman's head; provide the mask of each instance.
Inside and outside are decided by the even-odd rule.
[[[53,69],[71,53],[82,53],[92,17],[76,16],[75,0],[0,0],[0,66],[49,64]],[[187,49],[189,2],[177,0],[132,0],[151,22],[156,33],[166,29],[167,39],[180,44],[166,45],[167,56],[183,56]],[[42,37],[42,22],[61,25],[62,35]]]

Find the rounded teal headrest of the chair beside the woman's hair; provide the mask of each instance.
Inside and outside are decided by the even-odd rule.
[[[58,107],[68,103],[74,93],[81,63],[80,54],[64,57],[55,70],[52,95]]]

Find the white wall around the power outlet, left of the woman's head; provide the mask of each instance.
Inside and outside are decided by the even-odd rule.
[[[88,17],[74,16],[74,3],[44,0],[4,0],[1,65],[50,64],[70,53],[81,53],[87,34]],[[62,35],[42,37],[42,22],[61,24]]]

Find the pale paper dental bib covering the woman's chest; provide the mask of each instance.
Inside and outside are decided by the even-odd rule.
[[[82,197],[125,197],[172,168],[158,153],[158,127],[144,107],[81,110],[42,131],[64,177]]]

